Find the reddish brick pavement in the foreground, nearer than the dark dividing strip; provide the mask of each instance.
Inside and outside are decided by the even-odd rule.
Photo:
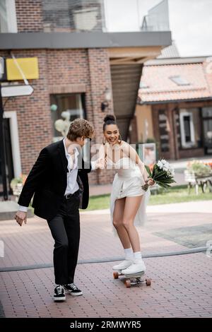
[[[212,313],[212,266],[205,254],[146,259],[151,287],[126,288],[112,263],[79,265],[83,296],[52,301],[52,268],[1,273],[7,317],[207,317]]]

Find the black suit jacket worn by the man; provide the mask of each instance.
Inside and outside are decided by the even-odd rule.
[[[33,198],[35,215],[51,220],[57,215],[67,186],[68,160],[63,140],[52,143],[40,151],[35,165],[21,191],[18,204],[29,206]],[[89,165],[78,155],[77,182],[80,190],[80,208],[87,208],[89,199],[88,172]]]

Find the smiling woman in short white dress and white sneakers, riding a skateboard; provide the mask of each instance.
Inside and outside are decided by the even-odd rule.
[[[135,225],[143,224],[146,218],[146,204],[150,191],[143,191],[141,186],[153,179],[148,173],[136,150],[122,141],[113,115],[107,115],[103,125],[100,160],[104,167],[115,169],[110,197],[110,215],[114,228],[124,247],[125,259],[113,266],[122,273],[139,273],[146,271],[141,256],[139,234]]]

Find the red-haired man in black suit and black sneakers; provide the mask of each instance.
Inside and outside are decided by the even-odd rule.
[[[88,206],[91,170],[90,162],[83,161],[81,148],[93,132],[88,121],[76,119],[66,138],[43,148],[18,200],[20,208],[15,219],[20,226],[27,221],[28,206],[34,195],[35,215],[45,218],[52,232],[55,301],[66,300],[65,290],[71,295],[83,294],[73,283],[80,239],[78,208]]]

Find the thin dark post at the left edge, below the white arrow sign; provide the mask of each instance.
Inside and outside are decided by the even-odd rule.
[[[1,174],[3,185],[3,197],[4,201],[8,201],[8,190],[6,184],[6,149],[5,149],[5,137],[4,137],[4,107],[1,97],[1,83],[0,83],[0,155],[1,155]]]

